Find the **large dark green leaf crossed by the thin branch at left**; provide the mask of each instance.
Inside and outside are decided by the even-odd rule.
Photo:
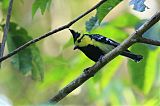
[[[9,34],[7,38],[7,45],[9,52],[20,47],[32,38],[28,35],[27,31],[18,26],[16,23],[10,23]],[[13,67],[23,74],[32,71],[34,79],[43,79],[43,63],[40,57],[39,49],[36,45],[32,45],[12,57],[11,63]]]

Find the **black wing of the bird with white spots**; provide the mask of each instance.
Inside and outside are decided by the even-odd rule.
[[[98,41],[98,42],[101,42],[101,43],[105,43],[105,44],[109,44],[109,45],[112,45],[114,47],[117,47],[119,45],[118,42],[114,41],[114,40],[111,40],[107,37],[104,37],[104,36],[101,36],[99,34],[92,34],[90,35],[92,39]]]

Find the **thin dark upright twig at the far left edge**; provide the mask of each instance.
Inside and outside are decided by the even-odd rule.
[[[0,47],[0,57],[3,57],[5,43],[6,43],[6,40],[7,40],[7,34],[8,34],[8,30],[9,30],[10,17],[11,17],[11,13],[12,13],[12,5],[13,5],[13,0],[10,0],[9,7],[8,7],[6,24],[4,26],[3,39],[2,39],[2,43],[1,43],[1,47]]]

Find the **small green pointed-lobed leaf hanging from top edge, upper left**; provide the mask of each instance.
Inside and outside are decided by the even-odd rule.
[[[41,13],[44,14],[47,7],[50,6],[52,0],[35,0],[32,5],[32,16],[35,15],[36,11],[40,8]]]

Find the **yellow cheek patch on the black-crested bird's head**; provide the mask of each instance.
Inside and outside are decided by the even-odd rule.
[[[78,39],[79,40],[79,39]],[[83,46],[87,46],[89,44],[93,44],[91,38],[89,36],[84,36],[81,39],[81,42],[78,42],[78,40],[75,42],[75,45],[79,46],[79,47],[83,47]]]

